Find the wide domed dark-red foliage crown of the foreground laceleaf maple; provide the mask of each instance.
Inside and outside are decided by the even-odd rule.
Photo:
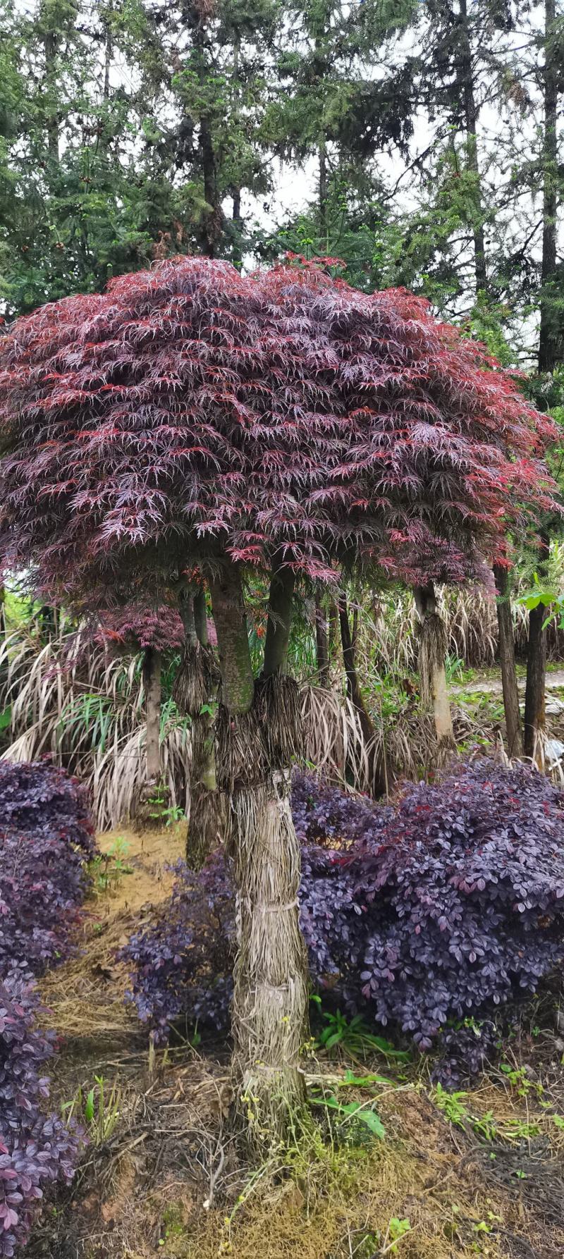
[[[50,592],[281,548],[456,582],[551,502],[551,424],[482,346],[300,263],[172,259],[20,319],[0,437],[0,555]]]

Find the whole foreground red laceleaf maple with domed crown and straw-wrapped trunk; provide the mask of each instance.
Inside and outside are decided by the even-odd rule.
[[[183,258],[19,320],[0,346],[0,555],[35,589],[131,580],[156,598],[186,564],[206,574],[240,894],[235,1060],[264,1133],[303,1088],[300,710],[283,675],[296,574],[480,575],[551,501],[550,422],[420,298],[300,262],[242,277]],[[245,565],[271,573],[258,680]]]

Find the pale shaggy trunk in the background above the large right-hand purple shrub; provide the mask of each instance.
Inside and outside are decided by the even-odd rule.
[[[433,709],[437,752],[438,758],[442,759],[454,749],[451,704],[444,670],[447,635],[444,622],[437,612],[433,583],[415,585],[413,594],[422,627],[419,643],[420,697],[423,704]]]

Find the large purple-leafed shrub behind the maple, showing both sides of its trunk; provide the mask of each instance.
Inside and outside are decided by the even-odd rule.
[[[495,1011],[533,993],[564,957],[564,793],[525,767],[477,760],[383,808],[298,776],[292,808],[313,985],[420,1049],[444,1045],[444,1079],[454,1080],[457,1058],[478,1066]],[[180,1012],[228,1019],[229,894],[217,856],[176,885],[174,949],[166,912],[125,951],[133,1000],[161,1037]],[[481,1040],[467,1020],[486,1021]]]

